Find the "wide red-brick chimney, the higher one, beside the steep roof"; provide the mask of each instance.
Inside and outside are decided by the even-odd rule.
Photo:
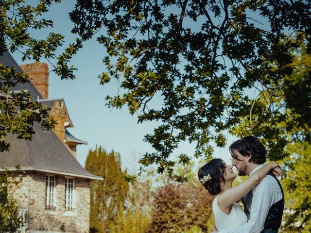
[[[35,62],[21,65],[20,68],[27,74],[43,99],[49,97],[49,67],[46,63]]]

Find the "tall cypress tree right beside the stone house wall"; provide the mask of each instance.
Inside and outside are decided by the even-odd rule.
[[[119,212],[125,208],[129,190],[125,172],[121,170],[120,154],[107,153],[101,146],[89,150],[86,169],[104,178],[104,181],[90,182],[90,232],[110,232],[110,226],[116,224]]]

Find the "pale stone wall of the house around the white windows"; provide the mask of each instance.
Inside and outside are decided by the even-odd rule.
[[[34,171],[23,175],[14,198],[17,200],[19,209],[29,211],[29,216],[26,217],[29,232],[89,232],[89,183],[88,180],[82,178],[74,180],[74,209],[72,211],[65,209],[65,176],[57,175],[56,208],[49,210],[45,208],[46,174]]]

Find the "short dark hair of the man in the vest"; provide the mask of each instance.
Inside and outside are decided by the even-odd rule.
[[[235,159],[238,159],[235,153],[238,151],[243,156],[251,154],[249,162],[253,162],[254,164],[263,164],[266,162],[267,150],[255,136],[246,136],[235,141],[229,147],[229,151],[231,156]]]

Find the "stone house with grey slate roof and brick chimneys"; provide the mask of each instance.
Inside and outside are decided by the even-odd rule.
[[[76,160],[76,146],[86,144],[67,128],[73,127],[63,99],[49,99],[49,71],[45,63],[18,66],[9,53],[0,57],[3,66],[15,67],[31,78],[12,91],[27,90],[32,101],[51,108],[57,125],[44,131],[34,125],[32,141],[9,134],[11,150],[0,153],[0,171],[20,166],[20,187],[13,190],[20,214],[25,216],[30,233],[88,233],[91,180],[103,178],[91,174]]]

